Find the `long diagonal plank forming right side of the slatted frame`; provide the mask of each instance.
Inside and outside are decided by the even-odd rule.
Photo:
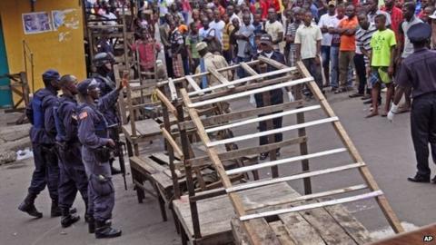
[[[302,62],[297,62],[297,67],[304,76],[311,75],[309,71],[306,69],[306,67],[304,66],[304,64],[302,64]],[[324,95],[322,94],[321,90],[318,88],[317,84],[311,82],[308,83],[308,86],[309,89],[314,94],[314,96],[316,97],[316,99],[318,100],[318,102],[321,104],[324,112],[330,117],[335,116],[332,107],[325,99]],[[345,147],[347,147],[348,151],[350,152],[350,156],[352,157],[353,161],[362,162],[363,160],[361,154],[357,151],[357,148],[355,147],[348,133],[345,132],[342,123],[337,121],[337,122],[333,122],[332,124],[334,129],[338,133],[339,137],[341,138],[342,143],[345,145]],[[362,168],[359,169],[359,171],[361,172],[363,180],[366,181],[367,185],[370,187],[372,191],[380,190],[379,185],[374,180],[372,173],[369,171],[368,167],[363,166]],[[386,220],[388,220],[388,222],[390,223],[392,229],[397,233],[404,231],[404,228],[402,228],[401,226],[400,220],[398,220],[398,217],[396,216],[395,212],[392,210],[391,204],[389,204],[389,201],[387,201],[386,197],[384,195],[379,196],[376,198],[376,200],[381,208],[381,211],[386,217]]]

